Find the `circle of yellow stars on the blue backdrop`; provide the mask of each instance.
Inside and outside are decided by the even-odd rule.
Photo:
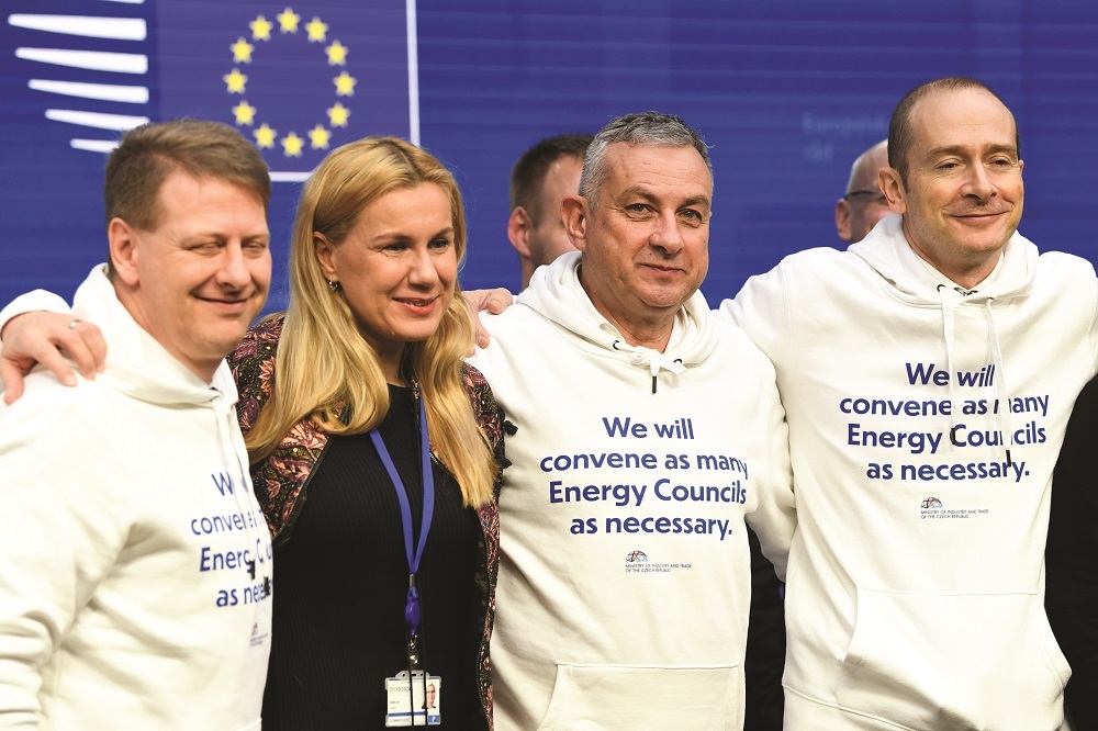
[[[309,43],[327,43],[328,26],[320,18],[313,16],[313,20],[302,25],[301,15],[288,7],[274,15],[274,21],[278,23],[277,27],[280,34],[296,34],[303,29]],[[358,79],[349,75],[345,68],[339,70],[339,76],[332,79],[332,83],[336,88],[336,102],[325,110],[327,125],[317,123],[316,126],[305,133],[305,137],[298,135],[294,131],[290,131],[279,137],[278,131],[271,128],[266,122],[257,127],[256,114],[259,110],[249,104],[247,99],[244,99],[248,77],[240,71],[240,66],[251,63],[251,54],[256,49],[256,44],[270,42],[271,32],[276,29],[276,23],[267,20],[264,15],[258,15],[254,21],[248,23],[248,27],[251,30],[250,38],[240,36],[236,40],[236,43],[228,47],[233,52],[233,70],[222,77],[225,81],[225,90],[228,93],[240,94],[240,102],[233,108],[236,124],[238,126],[247,125],[253,127],[251,134],[256,139],[256,146],[260,149],[273,149],[274,143],[278,142],[282,146],[282,151],[287,157],[301,157],[306,142],[305,137],[307,137],[309,145],[313,149],[327,149],[328,143],[332,139],[332,127],[346,127],[347,120],[350,117],[350,110],[343,105],[339,98],[354,97],[355,85],[358,82]],[[324,53],[327,56],[328,66],[344,67],[347,65],[348,49],[339,41],[332,41],[332,43],[324,46]]]

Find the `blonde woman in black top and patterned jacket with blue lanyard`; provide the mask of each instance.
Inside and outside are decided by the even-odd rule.
[[[267,731],[491,728],[502,419],[461,360],[464,248],[437,159],[346,145],[301,194],[288,312],[229,358],[274,537]]]

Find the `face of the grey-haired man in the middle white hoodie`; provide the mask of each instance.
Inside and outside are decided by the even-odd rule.
[[[693,147],[613,143],[604,166],[596,200],[564,203],[581,283],[632,345],[662,350],[709,267],[713,178]]]

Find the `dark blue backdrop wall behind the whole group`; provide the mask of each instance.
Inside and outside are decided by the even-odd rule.
[[[228,45],[247,31],[247,18],[273,18],[285,7],[186,0],[4,4],[9,13],[147,18],[147,114],[229,123],[232,100],[220,80],[232,66]],[[348,100],[355,124],[334,142],[406,136],[403,1],[290,4],[306,20],[330,19],[359,64],[359,87]],[[547,135],[594,132],[618,114],[657,109],[682,115],[713,146],[715,215],[704,291],[716,304],[791,251],[839,246],[832,207],[853,157],[886,135],[904,92],[955,74],[987,82],[1018,116],[1028,192],[1021,232],[1042,249],[1098,260],[1091,172],[1098,164],[1098,3],[1090,0],[419,0],[417,11],[421,142],[455,170],[466,195],[466,288],[517,286],[517,260],[505,234],[507,179],[526,147]],[[202,13],[212,20],[203,21]],[[71,294],[104,249],[102,155],[67,146],[74,127],[43,116],[59,102],[26,88],[27,78],[45,72],[43,65],[14,57],[15,47],[42,45],[46,35],[0,27],[2,301],[43,284]],[[274,42],[284,54],[274,53]],[[273,85],[274,98],[290,111],[307,111],[300,124],[310,124],[334,99],[323,88],[327,69],[317,71],[320,81],[294,81],[290,71],[307,64],[293,63],[290,52],[312,49],[276,37],[264,50],[264,63],[278,56],[283,64],[267,91]],[[257,56],[256,74],[259,61]],[[322,154],[295,162],[307,169]],[[271,225],[280,261],[298,189],[277,183]],[[283,297],[280,289],[271,307],[281,307]]]

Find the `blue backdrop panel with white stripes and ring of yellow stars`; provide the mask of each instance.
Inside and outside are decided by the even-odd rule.
[[[105,257],[102,169],[146,121],[216,120],[260,149],[284,306],[300,181],[366,135],[417,142],[411,0],[10,0],[2,29],[0,304],[66,296]]]

